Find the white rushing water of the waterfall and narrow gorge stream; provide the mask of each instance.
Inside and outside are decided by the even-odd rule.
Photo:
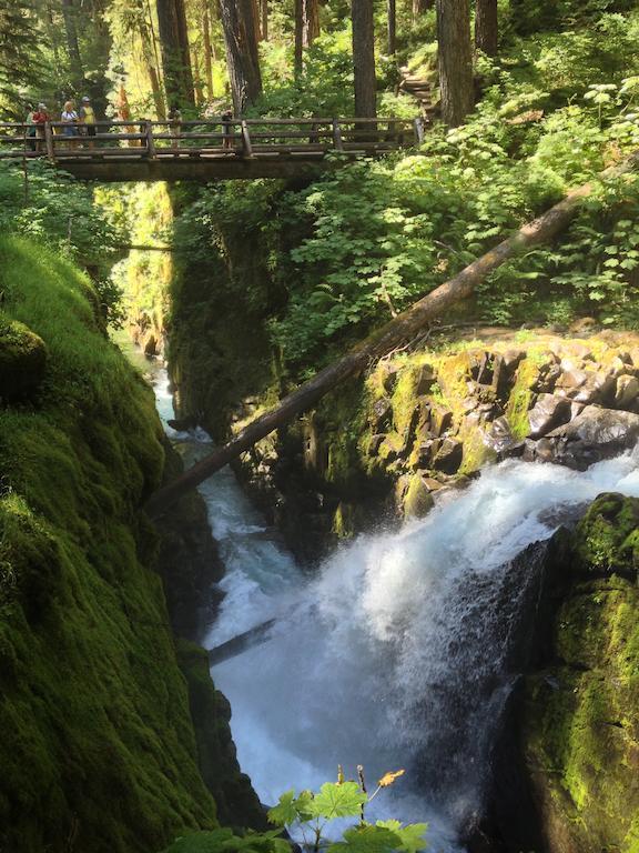
[[[171,417],[165,382],[156,392]],[[173,438],[187,456],[206,451],[201,431]],[[226,564],[207,648],[280,619],[268,643],[213,670],[262,801],[317,789],[338,763],[351,776],[363,764],[372,782],[406,767],[376,816],[426,820],[433,850],[458,850],[456,830],[480,804],[514,678],[518,606],[535,574],[534,560],[511,561],[551,535],[558,511],[604,491],[639,496],[632,454],[584,473],[508,461],[423,521],[341,548],[308,581],[265,535],[232,472],[207,481],[201,492]]]

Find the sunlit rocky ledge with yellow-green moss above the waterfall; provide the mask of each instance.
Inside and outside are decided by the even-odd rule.
[[[490,329],[382,360],[246,453],[242,474],[304,559],[377,523],[381,508],[390,521],[424,515],[491,461],[584,469],[638,438],[639,335]]]

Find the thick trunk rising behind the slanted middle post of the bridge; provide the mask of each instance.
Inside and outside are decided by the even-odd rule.
[[[253,0],[220,0],[220,10],[233,106],[241,116],[262,92]]]

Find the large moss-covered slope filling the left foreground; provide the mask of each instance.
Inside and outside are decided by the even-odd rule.
[[[0,279],[50,354],[36,403],[0,410],[0,844],[159,850],[216,819],[138,510],[163,468],[152,393],[70,264],[2,238]]]

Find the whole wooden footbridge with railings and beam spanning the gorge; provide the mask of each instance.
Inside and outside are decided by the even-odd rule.
[[[3,123],[0,159],[47,159],[95,181],[305,178],[423,138],[422,119],[398,118]]]

